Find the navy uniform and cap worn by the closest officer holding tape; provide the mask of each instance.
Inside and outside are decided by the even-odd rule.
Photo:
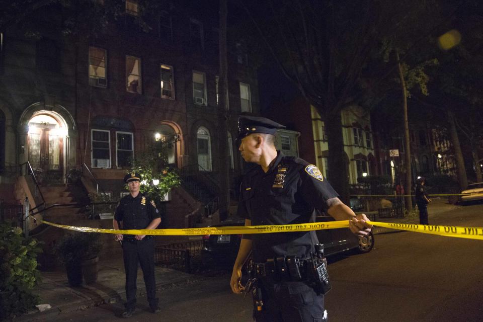
[[[262,122],[269,130],[281,126],[268,123],[264,118],[242,118],[239,140],[251,133],[258,133],[255,132],[260,128],[257,122]],[[250,126],[245,126],[247,122]],[[252,225],[315,222],[314,210],[327,210],[327,201],[336,197],[338,194],[317,167],[277,151],[277,157],[267,173],[261,167],[253,167],[244,176],[237,214],[251,220]],[[314,245],[318,244],[315,232],[252,234],[244,235],[244,238],[252,239],[255,267],[264,267],[263,272],[257,268],[261,273],[258,279],[263,300],[262,309],[254,309],[257,322],[325,321],[324,295],[316,292],[305,277],[292,278],[287,270],[279,269],[281,265],[286,265],[285,259],[288,257],[295,256],[300,260],[310,258],[311,253],[315,252]]]

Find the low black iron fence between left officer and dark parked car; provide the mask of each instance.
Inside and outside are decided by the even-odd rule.
[[[191,240],[155,247],[154,263],[191,273],[191,258],[203,248],[203,240]]]

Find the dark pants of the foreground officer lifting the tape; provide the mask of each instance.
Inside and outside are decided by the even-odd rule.
[[[259,280],[263,306],[254,308],[257,322],[322,322],[324,295],[317,295],[304,282],[276,282],[270,278]]]

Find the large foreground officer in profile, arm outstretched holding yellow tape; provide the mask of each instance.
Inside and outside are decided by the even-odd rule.
[[[274,145],[278,128],[284,126],[263,117],[240,116],[238,149],[246,162],[258,166],[241,182],[238,215],[246,225],[281,225],[314,222],[314,210],[324,210],[336,220],[348,220],[349,228],[367,235],[372,225],[364,214],[355,215],[338,198],[314,165],[285,156]],[[241,267],[252,252],[256,285],[254,317],[260,321],[325,321],[324,291],[314,287],[309,275],[319,265],[315,232],[244,235],[233,266],[230,286],[241,285]],[[319,267],[319,266],[317,266]],[[324,267],[325,269],[325,267]]]

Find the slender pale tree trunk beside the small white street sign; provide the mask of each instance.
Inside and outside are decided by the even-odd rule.
[[[405,145],[405,170],[406,170],[406,180],[405,180],[405,191],[407,191],[407,197],[405,197],[406,201],[406,209],[408,211],[413,210],[413,200],[411,196],[409,196],[409,192],[411,191],[411,148],[410,148],[410,141],[409,141],[409,123],[408,123],[408,93],[406,90],[406,81],[404,80],[403,74],[403,67],[401,66],[401,62],[399,60],[399,52],[396,50],[396,58],[397,58],[397,68],[399,71],[399,79],[401,81],[401,89],[403,90],[403,110],[404,110],[404,145]]]

